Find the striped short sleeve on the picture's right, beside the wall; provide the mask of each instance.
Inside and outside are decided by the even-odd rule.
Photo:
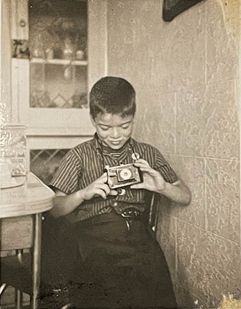
[[[170,167],[168,162],[164,159],[163,155],[157,149],[155,149],[154,170],[160,172],[160,174],[164,178],[164,181],[166,181],[167,183],[175,183],[175,181],[178,181],[177,174],[175,173],[173,168]]]

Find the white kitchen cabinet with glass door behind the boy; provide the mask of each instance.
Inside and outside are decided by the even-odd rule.
[[[29,168],[48,180],[66,151],[94,133],[86,98],[107,75],[107,0],[0,2],[10,121],[26,126]],[[85,6],[86,21],[78,12]],[[82,27],[80,34],[75,25]],[[77,45],[71,46],[75,35]]]

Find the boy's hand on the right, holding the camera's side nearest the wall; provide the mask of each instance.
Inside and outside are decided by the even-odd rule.
[[[153,170],[147,161],[138,159],[135,161],[134,165],[142,171],[143,182],[137,185],[131,185],[131,189],[146,189],[157,193],[161,193],[165,190],[166,182],[164,178],[160,172]]]

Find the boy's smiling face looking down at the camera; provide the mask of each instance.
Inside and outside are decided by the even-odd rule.
[[[118,150],[131,137],[134,117],[99,113],[95,119],[91,117],[91,121],[103,145]]]

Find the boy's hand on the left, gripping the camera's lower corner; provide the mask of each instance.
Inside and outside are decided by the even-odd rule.
[[[83,189],[83,198],[85,201],[91,200],[95,196],[102,196],[103,199],[106,199],[107,195],[117,195],[116,190],[110,190],[107,182],[107,173],[104,173],[96,181],[93,181]]]

